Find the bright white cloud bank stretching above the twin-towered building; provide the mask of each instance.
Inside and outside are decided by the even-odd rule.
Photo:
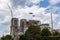
[[[18,17],[27,17],[29,16],[29,13],[32,12],[33,15],[37,16],[37,15],[40,15],[41,13],[44,13],[45,10],[46,8],[39,8],[38,6],[35,6],[35,5],[32,6],[31,8],[26,6],[26,8],[22,8],[22,9],[18,8],[17,10],[14,11],[14,14],[15,16],[18,16]]]

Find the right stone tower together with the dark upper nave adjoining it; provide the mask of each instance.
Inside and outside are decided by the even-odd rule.
[[[20,20],[20,32],[25,33],[30,25],[40,25],[40,21],[21,19]]]

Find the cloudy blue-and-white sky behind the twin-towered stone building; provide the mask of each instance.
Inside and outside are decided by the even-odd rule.
[[[8,5],[13,11],[13,17],[19,20],[33,19],[51,25],[52,13],[53,28],[60,29],[60,0],[0,0],[0,37],[10,34],[11,11]]]

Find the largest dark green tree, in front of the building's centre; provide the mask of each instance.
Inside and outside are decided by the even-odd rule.
[[[26,40],[37,40],[40,37],[40,26],[29,26],[25,33]]]

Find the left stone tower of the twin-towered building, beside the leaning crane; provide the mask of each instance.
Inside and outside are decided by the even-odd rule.
[[[12,18],[10,34],[14,40],[18,39],[18,31],[18,18]]]

